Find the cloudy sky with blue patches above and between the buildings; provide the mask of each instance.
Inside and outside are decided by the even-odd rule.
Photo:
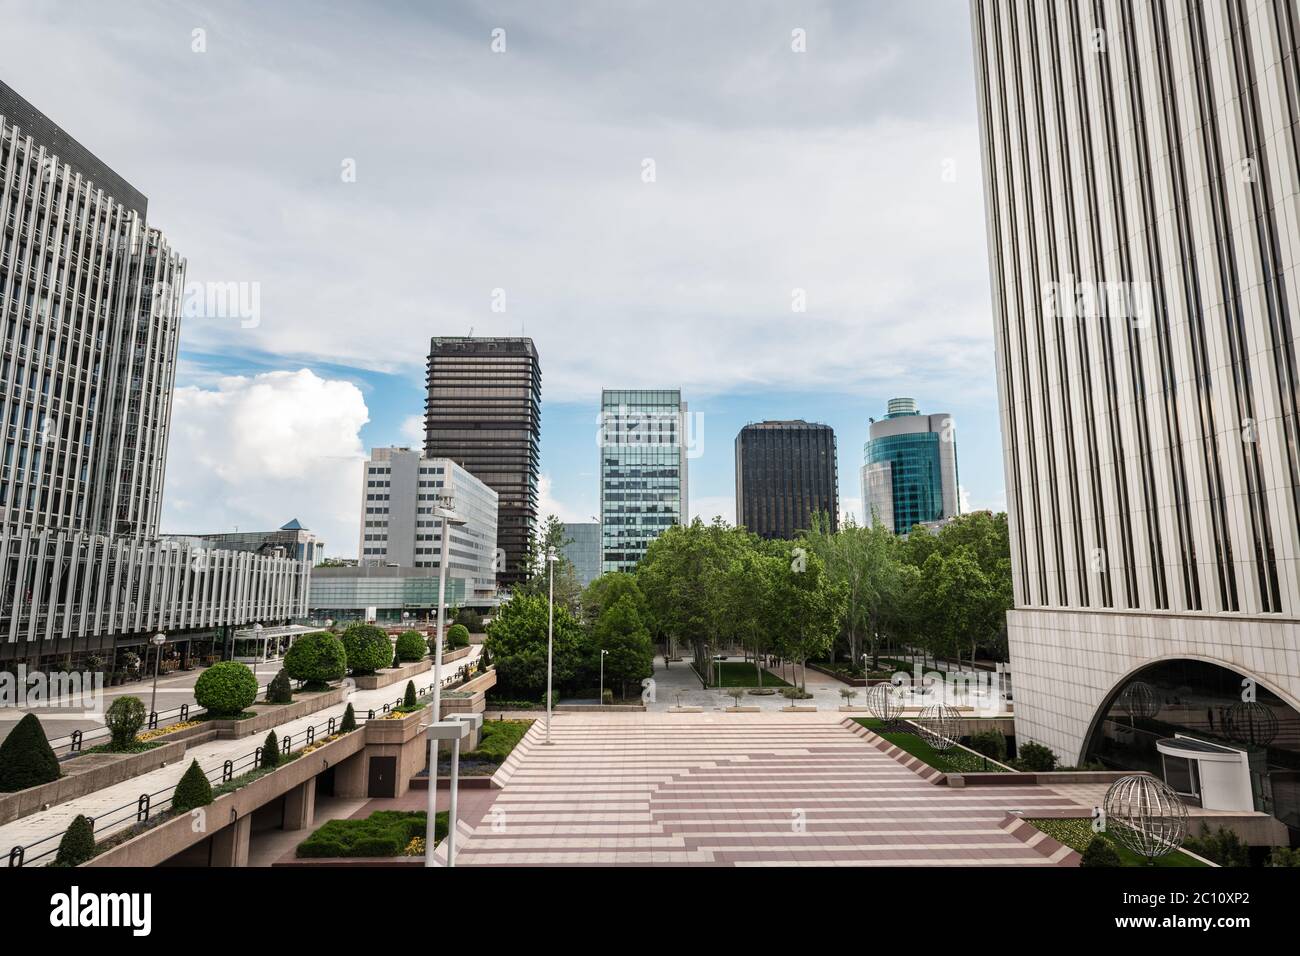
[[[965,0],[29,3],[0,78],[187,259],[162,531],[298,518],[356,554],[367,449],[420,446],[432,336],[530,336],[542,512],[598,511],[602,388],[737,431],[954,416],[1005,507]],[[57,51],[57,65],[51,62]],[[192,291],[191,291],[192,290]],[[220,290],[237,290],[222,300]]]

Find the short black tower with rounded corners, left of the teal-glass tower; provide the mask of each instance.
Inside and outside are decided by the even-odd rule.
[[[802,420],[760,421],[736,436],[736,523],[790,540],[824,511],[840,528],[835,432]]]

